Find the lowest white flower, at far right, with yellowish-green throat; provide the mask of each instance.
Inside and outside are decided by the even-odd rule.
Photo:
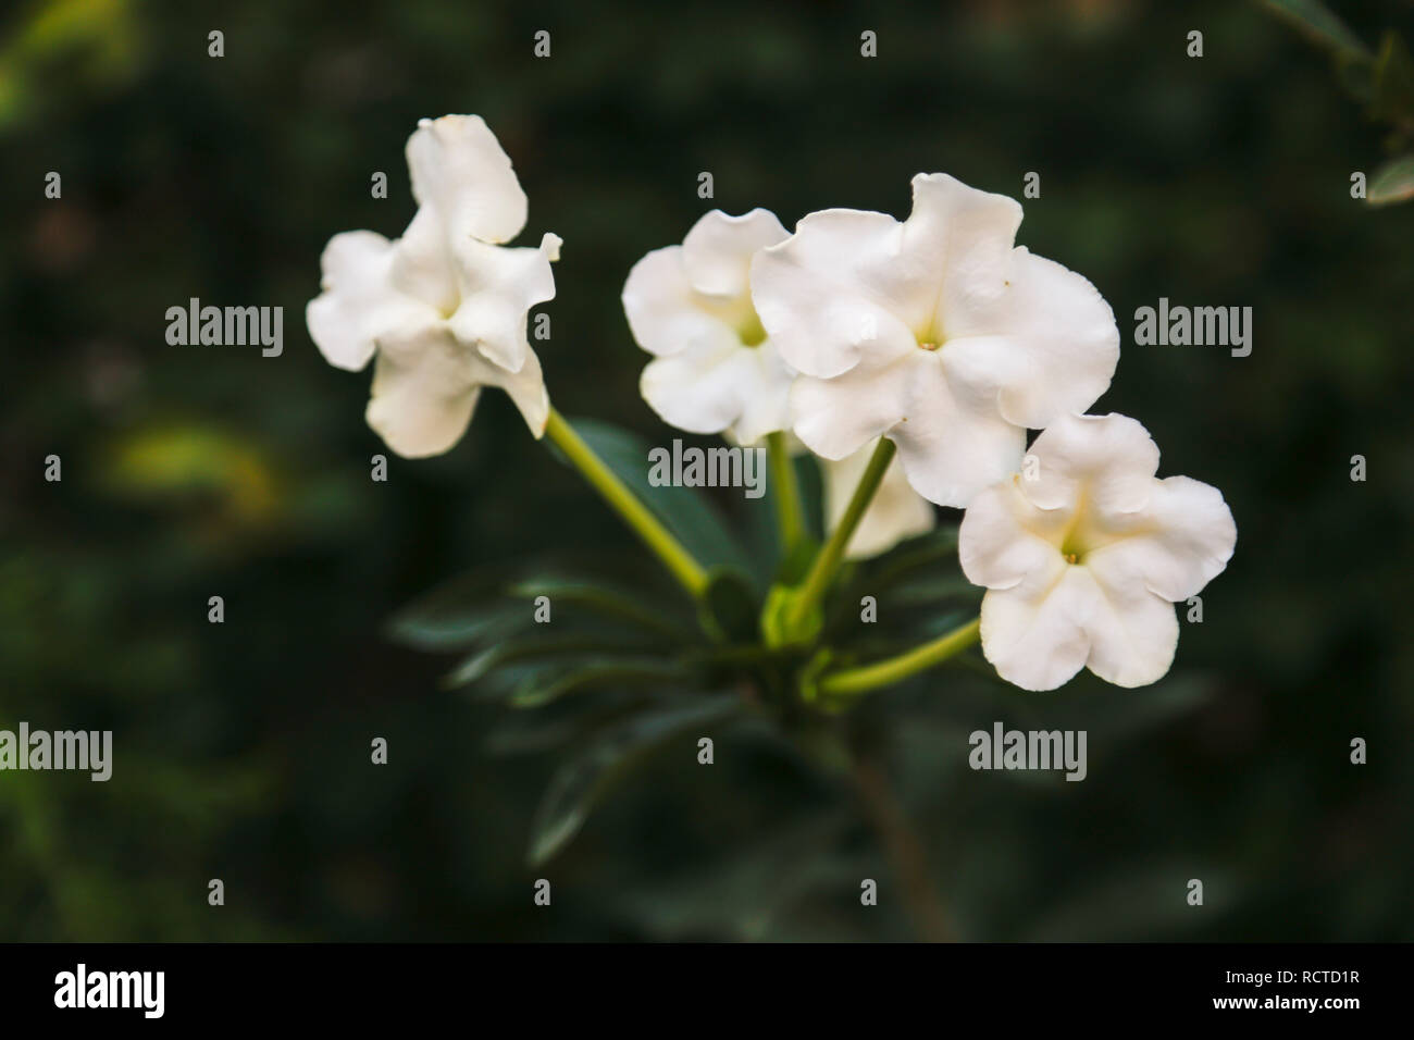
[[[1055,689],[1087,666],[1143,686],[1174,661],[1174,603],[1232,557],[1237,528],[1217,488],[1157,480],[1158,447],[1120,415],[1065,416],[1014,474],[967,507],[959,557],[981,601],[981,645],[997,674]],[[1031,468],[1031,467],[1027,467]]]

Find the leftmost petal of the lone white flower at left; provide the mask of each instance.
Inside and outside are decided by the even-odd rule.
[[[304,321],[324,358],[356,372],[389,330],[420,324],[427,310],[393,287],[396,243],[372,231],[335,235],[320,259],[324,291],[304,308]]]

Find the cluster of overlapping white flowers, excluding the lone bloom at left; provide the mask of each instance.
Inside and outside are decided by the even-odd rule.
[[[826,209],[788,235],[764,209],[710,212],[624,287],[656,358],[643,399],[693,433],[792,432],[826,464],[831,521],[888,437],[902,468],[853,555],[928,531],[929,502],[964,508],[959,555],[987,587],[983,652],[1003,678],[1053,689],[1087,666],[1151,683],[1178,647],[1174,601],[1223,569],[1237,531],[1215,488],[1155,480],[1137,422],[1082,415],[1120,358],[1114,313],[1017,246],[1019,225],[1015,200],[946,174],[913,178],[906,221]],[[1035,481],[1028,429],[1044,430]]]

